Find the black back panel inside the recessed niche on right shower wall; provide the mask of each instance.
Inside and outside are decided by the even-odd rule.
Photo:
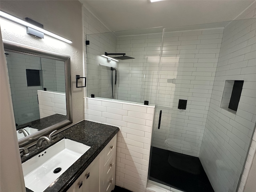
[[[241,97],[242,88],[243,88],[244,81],[234,81],[234,86],[232,90],[232,94],[230,97],[230,102],[228,108],[237,111],[238,103]]]

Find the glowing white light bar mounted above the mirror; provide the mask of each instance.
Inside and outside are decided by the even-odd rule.
[[[12,15],[10,15],[10,14],[7,14],[6,12],[3,12],[3,11],[1,11],[1,10],[0,10],[0,16],[3,17],[3,18],[6,18],[6,19],[8,19],[8,20],[11,20],[11,21],[13,21],[13,22],[16,22],[16,23],[18,23],[18,24],[21,24],[21,25],[23,25],[23,26],[30,27],[30,28],[33,28],[33,29],[38,30],[38,31],[40,31],[40,32],[43,32],[44,34],[46,34],[46,35],[48,35],[48,36],[51,36],[51,37],[56,38],[56,39],[58,39],[58,40],[64,41],[64,42],[66,42],[66,43],[72,43],[72,41],[70,41],[70,40],[68,40],[68,39],[66,39],[66,38],[63,38],[63,37],[58,36],[58,35],[56,35],[56,34],[50,32],[50,31],[47,31],[47,30],[42,29],[42,28],[40,28],[40,27],[38,27],[38,26],[35,26],[35,25],[33,25],[33,24],[30,24],[30,23],[28,23],[28,22],[26,22],[26,21],[24,21],[24,20],[21,20],[21,19],[19,19],[19,18],[17,18],[17,17],[14,17],[14,16],[12,16]]]

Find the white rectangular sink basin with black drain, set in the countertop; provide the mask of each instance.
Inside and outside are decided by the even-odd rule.
[[[62,139],[22,163],[26,188],[42,192],[78,160],[90,146]]]

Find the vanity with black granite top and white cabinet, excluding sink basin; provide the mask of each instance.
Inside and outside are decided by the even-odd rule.
[[[48,153],[63,138],[90,146],[74,164],[52,182],[44,192],[111,192],[115,184],[116,134],[118,127],[83,120],[70,128],[52,136],[52,144],[45,141],[41,149],[29,148],[30,155],[22,157],[22,163],[33,156]],[[25,182],[26,186],[26,182]],[[32,190],[26,188],[27,192]]]

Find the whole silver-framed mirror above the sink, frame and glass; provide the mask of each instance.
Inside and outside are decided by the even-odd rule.
[[[70,56],[3,43],[19,146],[71,124]]]

